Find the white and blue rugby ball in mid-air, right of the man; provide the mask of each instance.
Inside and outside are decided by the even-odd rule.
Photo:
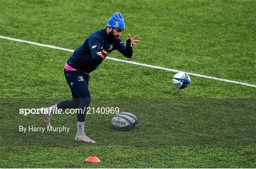
[[[185,72],[179,72],[173,77],[173,84],[179,89],[184,89],[191,83],[190,77]]]

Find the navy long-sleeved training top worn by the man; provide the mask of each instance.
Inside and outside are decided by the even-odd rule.
[[[103,59],[97,55],[97,53],[102,50],[106,51],[107,55],[113,50],[118,50],[125,57],[132,57],[130,39],[127,40],[126,46],[119,38],[117,41],[110,41],[107,29],[102,29],[91,34],[79,48],[74,51],[73,55],[68,59],[67,64],[72,68],[89,74],[98,68],[103,61]],[[107,55],[105,55],[105,58]]]

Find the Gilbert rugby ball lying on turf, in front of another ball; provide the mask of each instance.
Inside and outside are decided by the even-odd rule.
[[[119,130],[128,130],[133,127],[130,119],[119,116],[118,114],[112,118],[112,125]]]

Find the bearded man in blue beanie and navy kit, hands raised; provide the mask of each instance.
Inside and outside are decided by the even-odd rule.
[[[91,94],[88,89],[90,72],[99,67],[107,55],[118,50],[125,57],[131,58],[132,46],[136,45],[137,35],[130,38],[128,34],[126,45],[119,39],[125,29],[122,15],[117,12],[110,17],[107,28],[91,34],[85,42],[77,48],[68,59],[64,67],[64,75],[70,87],[73,100],[62,101],[48,108],[42,108],[40,113],[44,118],[46,126],[50,127],[51,113],[57,109],[81,109],[85,110],[91,101]],[[85,113],[77,113],[77,134],[76,141],[95,143],[84,133]]]

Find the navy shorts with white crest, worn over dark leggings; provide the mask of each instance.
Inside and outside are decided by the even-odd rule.
[[[80,84],[86,85],[87,88],[89,87],[90,76],[79,70],[67,70],[64,68],[64,75],[71,90],[74,86]]]

